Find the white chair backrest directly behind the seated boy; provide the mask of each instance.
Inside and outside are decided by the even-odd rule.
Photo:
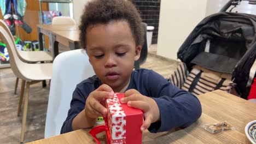
[[[60,53],[53,62],[44,137],[59,135],[77,84],[95,75],[82,49]]]

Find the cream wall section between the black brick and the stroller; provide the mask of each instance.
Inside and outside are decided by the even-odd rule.
[[[177,52],[206,14],[207,0],[161,0],[157,55],[177,59]]]

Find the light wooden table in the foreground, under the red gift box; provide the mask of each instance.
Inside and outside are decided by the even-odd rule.
[[[256,104],[217,90],[198,96],[202,104],[202,116],[192,125],[178,131],[152,134],[143,133],[143,143],[250,143],[245,135],[245,126],[256,119]],[[201,125],[206,123],[228,122],[235,130],[211,134]],[[95,143],[89,135],[90,129],[75,130],[34,143]],[[98,134],[99,140],[106,143],[106,136]]]

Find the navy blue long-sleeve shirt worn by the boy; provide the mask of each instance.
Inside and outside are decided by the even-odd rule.
[[[72,121],[85,107],[89,94],[101,86],[98,77],[92,76],[80,82],[73,92],[71,108],[61,128],[61,134],[72,131]],[[138,69],[132,71],[126,91],[136,89],[142,95],[153,98],[158,104],[160,121],[152,123],[149,131],[157,133],[176,127],[187,127],[201,116],[200,101],[191,93],[173,86],[153,70]]]

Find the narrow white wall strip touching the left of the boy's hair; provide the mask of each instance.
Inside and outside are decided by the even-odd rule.
[[[80,23],[80,16],[83,13],[84,5],[88,3],[90,0],[73,0],[74,7],[74,20],[77,24]]]

